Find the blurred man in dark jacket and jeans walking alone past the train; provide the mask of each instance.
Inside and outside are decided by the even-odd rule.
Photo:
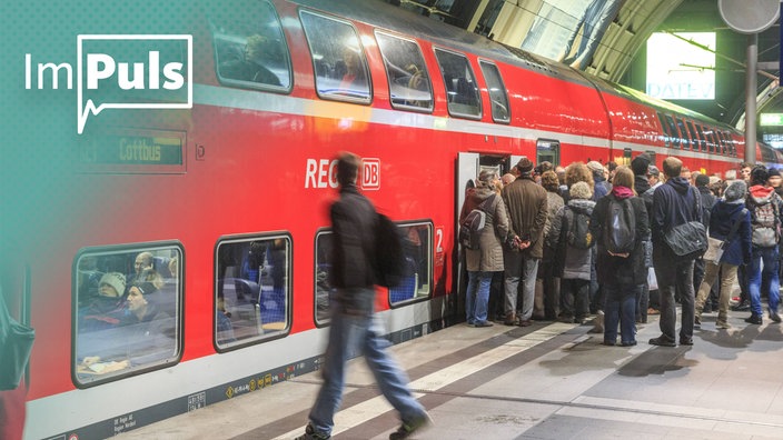
[[[389,342],[381,338],[383,329],[374,321],[377,213],[356,188],[360,166],[361,159],[349,152],[341,153],[337,161],[340,198],[331,206],[334,246],[329,273],[336,291],[321,370],[324,384],[310,410],[305,434],[297,440],[331,437],[334,416],[343,399],[345,364],[358,353],[364,353],[378,389],[403,420],[399,429],[389,436],[390,440],[406,439],[430,422],[424,407],[410,393],[405,372],[386,352]]]

